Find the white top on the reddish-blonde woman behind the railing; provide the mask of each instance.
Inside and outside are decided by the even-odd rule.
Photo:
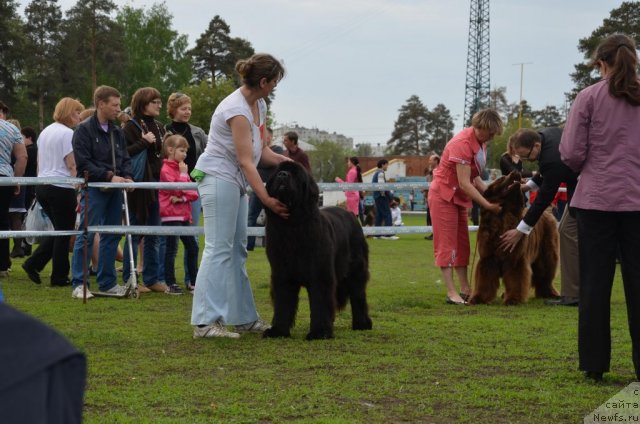
[[[73,130],[58,122],[54,122],[42,130],[40,137],[38,137],[38,177],[71,176],[64,158],[73,153],[72,138]],[[73,184],[53,185],[73,188]]]

